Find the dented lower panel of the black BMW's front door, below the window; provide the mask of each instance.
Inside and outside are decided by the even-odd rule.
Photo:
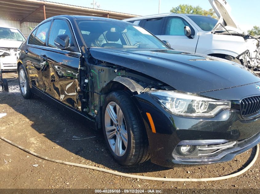
[[[81,54],[48,48],[42,51],[42,55],[47,58],[41,67],[44,91],[64,104],[82,111],[78,75]]]

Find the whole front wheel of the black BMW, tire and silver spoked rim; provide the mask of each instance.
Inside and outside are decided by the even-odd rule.
[[[131,166],[150,158],[141,116],[126,91],[108,94],[102,109],[102,127],[108,149],[119,164]]]

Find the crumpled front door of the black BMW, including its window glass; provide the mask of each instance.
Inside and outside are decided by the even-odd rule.
[[[66,19],[54,19],[47,47],[42,50],[44,90],[64,104],[81,111],[82,94],[78,75],[81,53],[57,48],[54,40],[60,34],[67,34],[70,46],[78,48],[70,23]]]

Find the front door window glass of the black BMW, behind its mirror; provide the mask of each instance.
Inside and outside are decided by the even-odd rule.
[[[57,48],[54,44],[55,38],[60,35],[60,34],[66,34],[70,37],[70,46],[74,46],[74,42],[72,40],[72,35],[70,32],[70,28],[66,21],[56,19],[54,20],[51,29],[50,29],[50,36],[49,36],[49,41],[48,41],[48,47],[53,47]]]

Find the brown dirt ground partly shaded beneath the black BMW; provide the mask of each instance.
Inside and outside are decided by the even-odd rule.
[[[4,73],[16,76],[16,73]],[[101,131],[71,117],[41,98],[23,99],[18,80],[9,82],[9,92],[0,87],[0,135],[38,154],[124,173],[151,177],[204,178],[228,175],[243,169],[255,148],[232,161],[187,168],[165,168],[147,161],[134,167],[118,165],[106,148]],[[72,140],[73,136],[90,139]],[[37,167],[33,165],[37,164]],[[246,173],[213,182],[162,182],[118,177],[94,170],[57,164],[34,157],[0,140],[0,188],[143,188],[143,189],[260,189],[260,157]],[[260,191],[260,190],[258,190]],[[243,192],[240,192],[243,193]]]

